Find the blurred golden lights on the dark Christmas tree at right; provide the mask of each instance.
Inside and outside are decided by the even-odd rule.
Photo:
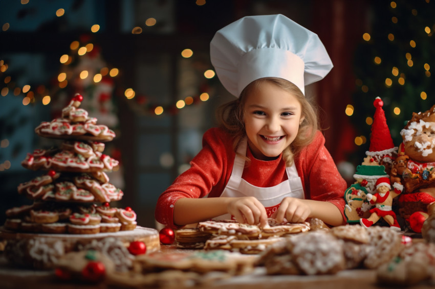
[[[424,0],[426,3],[429,3],[431,0]],[[433,0],[432,0],[433,1]],[[396,1],[391,1],[390,2],[390,7],[392,9],[396,9],[397,8],[397,3]],[[417,16],[418,11],[416,9],[412,9],[411,10],[412,15]],[[396,16],[392,16],[391,21],[393,23],[398,23],[399,19]],[[421,29],[427,34],[428,37],[431,37],[433,35],[433,32],[435,31],[435,24],[432,25],[432,28],[430,28],[429,26],[424,26],[421,27]],[[363,33],[362,35],[362,39],[366,42],[369,42],[371,40],[372,36],[369,33]],[[389,41],[394,41],[395,40],[395,35],[393,33],[388,33],[387,34],[387,38]],[[418,45],[417,41],[415,39],[410,39],[409,40],[409,47],[411,48],[415,48]],[[406,58],[406,63],[409,67],[414,67],[414,61],[412,60],[412,55],[411,53],[407,52],[405,53],[404,57]],[[382,63],[382,57],[381,56],[375,56],[373,58],[373,61],[376,65],[380,65]],[[422,69],[423,68],[423,69]],[[424,63],[423,67],[417,67],[416,69],[422,69],[422,77],[430,77],[431,73],[430,73],[430,64],[429,63]],[[405,79],[406,79],[406,75],[404,73],[400,72],[400,69],[397,66],[393,66],[391,68],[391,75],[387,75],[385,76],[385,87],[390,88],[392,87],[395,83],[397,83],[398,85],[405,85]],[[356,85],[358,87],[360,87],[361,91],[363,91],[364,93],[367,93],[369,91],[369,87],[368,85],[364,84],[363,81],[361,79],[357,79],[356,80]],[[422,100],[427,100],[428,95],[425,91],[421,91],[420,92],[420,98]],[[345,108],[345,114],[347,116],[352,116],[354,114],[354,106],[351,104],[348,104]],[[393,113],[396,115],[399,115],[401,113],[401,109],[400,107],[394,107],[393,108]],[[368,126],[371,126],[373,124],[373,118],[371,116],[367,116],[365,118],[365,123]],[[366,143],[367,138],[364,135],[361,136],[356,136],[354,139],[354,142],[357,146],[361,146],[362,144]]]

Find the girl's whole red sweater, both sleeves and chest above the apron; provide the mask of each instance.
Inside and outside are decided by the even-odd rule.
[[[337,171],[334,160],[324,147],[324,137],[317,132],[314,141],[294,159],[296,170],[302,181],[305,198],[327,201],[336,205],[344,217],[344,191],[346,182]],[[252,156],[249,147],[247,156],[251,159],[245,167],[242,178],[258,187],[275,186],[287,180],[286,165],[282,154],[275,160],[262,161]],[[180,198],[219,197],[230,176],[235,152],[231,136],[219,128],[209,129],[203,137],[203,149],[190,162],[190,168],[180,176],[159,197],[156,206],[156,220],[166,226],[173,224],[173,207]]]

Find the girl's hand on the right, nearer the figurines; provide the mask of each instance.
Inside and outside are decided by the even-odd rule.
[[[301,223],[310,216],[311,207],[304,200],[284,198],[276,211],[275,220],[278,223],[287,219],[289,223]]]

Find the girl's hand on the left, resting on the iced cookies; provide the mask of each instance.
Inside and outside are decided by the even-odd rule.
[[[227,211],[239,223],[249,225],[260,224],[264,227],[267,224],[267,213],[262,203],[254,197],[231,198],[227,205]]]

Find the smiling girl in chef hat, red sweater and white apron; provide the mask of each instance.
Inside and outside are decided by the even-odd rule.
[[[346,183],[303,94],[332,68],[317,35],[282,15],[250,16],[218,31],[210,53],[238,99],[218,110],[220,128],[204,134],[190,169],[160,196],[156,220],[343,224]]]

